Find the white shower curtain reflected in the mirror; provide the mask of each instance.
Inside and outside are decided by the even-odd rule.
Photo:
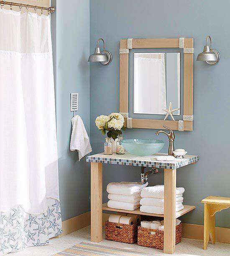
[[[164,53],[134,53],[134,113],[165,114]]]

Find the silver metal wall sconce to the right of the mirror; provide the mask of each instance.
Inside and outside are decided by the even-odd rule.
[[[208,46],[210,40],[210,47]],[[197,60],[205,61],[208,65],[216,65],[220,61],[220,53],[216,49],[212,49],[211,37],[207,36],[204,51],[197,55]]]

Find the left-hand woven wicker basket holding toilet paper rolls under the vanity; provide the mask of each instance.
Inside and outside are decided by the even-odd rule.
[[[140,223],[133,225],[105,222],[105,239],[122,243],[135,243],[137,241],[138,226]]]

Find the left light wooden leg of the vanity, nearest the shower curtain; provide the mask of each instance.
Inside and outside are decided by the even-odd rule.
[[[91,241],[102,240],[102,163],[91,163]]]

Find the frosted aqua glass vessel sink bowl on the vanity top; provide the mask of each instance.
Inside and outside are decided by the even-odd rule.
[[[163,140],[128,139],[121,141],[125,150],[133,155],[153,155],[164,147]]]

